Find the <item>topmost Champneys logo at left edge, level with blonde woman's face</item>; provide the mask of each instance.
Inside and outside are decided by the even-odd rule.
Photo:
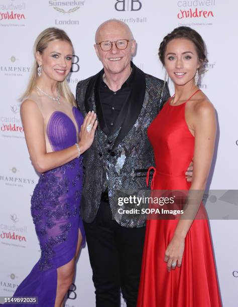
[[[30,74],[31,67],[20,65],[19,62],[20,60],[12,55],[8,60],[6,59],[6,65],[0,65],[0,74],[2,73],[5,77],[23,77]]]

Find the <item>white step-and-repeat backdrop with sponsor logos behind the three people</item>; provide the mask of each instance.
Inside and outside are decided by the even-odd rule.
[[[33,63],[33,44],[48,27],[59,27],[71,38],[70,87],[101,69],[93,44],[100,23],[119,19],[129,25],[138,48],[134,63],[161,79],[157,52],[175,27],[189,26],[203,37],[209,63],[199,87],[217,111],[218,135],[211,189],[237,187],[237,16],[236,0],[0,0],[0,296],[13,295],[40,257],[30,214],[38,175],[29,159],[18,98],[26,88]],[[169,83],[171,94],[173,87]],[[236,220],[210,221],[223,305],[238,305]],[[76,278],[66,306],[94,306],[94,287],[87,247],[81,250]],[[126,303],[122,299],[122,306]]]

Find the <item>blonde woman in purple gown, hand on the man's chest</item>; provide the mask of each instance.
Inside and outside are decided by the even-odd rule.
[[[73,46],[64,31],[43,31],[35,43],[35,65],[21,105],[30,158],[41,173],[31,199],[41,257],[14,296],[38,296],[38,306],[44,307],[63,303],[85,240],[81,154],[93,142],[97,121],[93,112],[83,119],[75,106],[66,81],[72,56]]]

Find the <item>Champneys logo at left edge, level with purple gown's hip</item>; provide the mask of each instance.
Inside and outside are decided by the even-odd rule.
[[[19,173],[19,175],[18,175]],[[25,177],[16,167],[10,169],[7,173],[0,173],[0,185],[4,184],[10,187],[23,188],[29,185],[35,185],[35,179]]]

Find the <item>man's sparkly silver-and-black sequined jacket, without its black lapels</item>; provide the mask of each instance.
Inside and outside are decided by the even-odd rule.
[[[137,93],[135,94],[135,101],[129,106],[128,117],[126,118],[128,121],[131,120],[137,108],[135,103],[138,103],[138,99],[142,99],[141,108],[138,109],[135,122],[124,123],[122,127],[110,136],[107,136],[99,125],[91,147],[84,154],[81,216],[88,223],[94,220],[100,205],[101,192],[107,185],[112,213],[118,207],[116,197],[118,193],[120,194],[120,191],[147,189],[147,170],[150,166],[154,165],[154,154],[147,137],[147,128],[158,114],[164,101],[169,97],[169,91],[166,85],[162,97],[164,82],[153,76],[144,74],[138,68],[137,70],[142,77],[141,80],[143,80],[143,77],[145,78],[144,94],[141,97],[137,97]],[[86,93],[87,87],[92,81],[91,78],[96,78],[97,75],[82,80],[77,84],[76,101],[80,111],[84,115],[89,110],[87,110],[88,102],[91,105],[90,109],[93,109],[97,113],[94,86],[89,97],[87,97]],[[138,85],[140,86],[140,84],[135,84],[135,88],[138,88]],[[124,132],[125,136],[120,139],[119,137]],[[121,214],[112,215],[117,223],[123,227],[134,228],[145,226],[145,221],[138,219],[136,216],[128,218]]]

